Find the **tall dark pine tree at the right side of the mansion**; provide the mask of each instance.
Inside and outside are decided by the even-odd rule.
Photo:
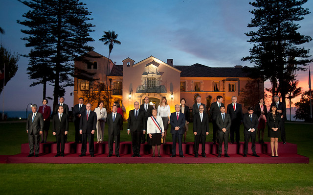
[[[310,36],[301,35],[295,22],[304,19],[309,10],[302,7],[307,0],[255,0],[250,2],[254,15],[248,27],[255,31],[245,33],[251,37],[247,42],[253,43],[249,50],[250,56],[243,61],[255,63],[257,72],[272,84],[272,96],[281,94],[286,102],[287,84],[295,78],[296,71],[305,70],[311,62],[309,49],[300,47],[301,44],[312,40]]]

